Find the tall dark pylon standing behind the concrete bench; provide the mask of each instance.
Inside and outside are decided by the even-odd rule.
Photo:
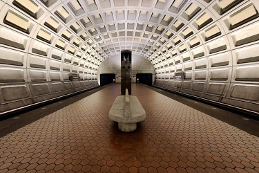
[[[128,94],[131,95],[131,51],[121,52],[121,94],[125,95],[125,89],[128,89]]]

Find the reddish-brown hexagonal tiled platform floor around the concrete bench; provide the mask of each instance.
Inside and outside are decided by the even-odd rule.
[[[119,87],[0,138],[0,172],[259,172],[258,137],[141,84],[146,120],[119,131],[108,119]]]

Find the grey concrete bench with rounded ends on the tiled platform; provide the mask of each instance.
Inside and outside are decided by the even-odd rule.
[[[128,95],[128,89],[126,89],[126,94],[117,96],[113,102],[109,118],[118,122],[121,131],[134,131],[137,129],[137,122],[146,118],[146,111],[137,97]]]

